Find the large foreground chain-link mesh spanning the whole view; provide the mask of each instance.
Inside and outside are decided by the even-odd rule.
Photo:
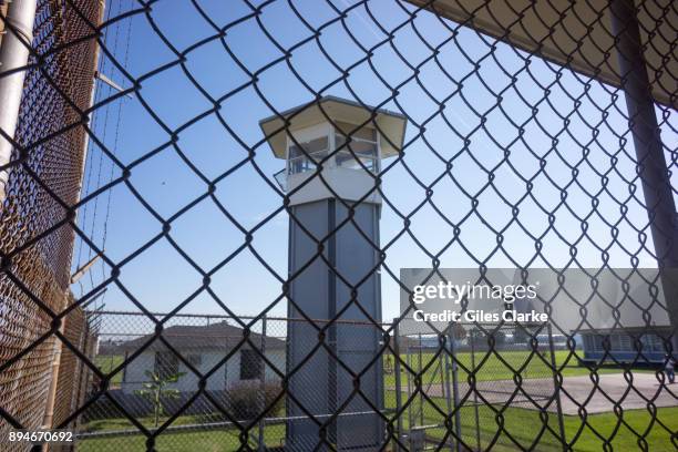
[[[366,450],[678,446],[670,273],[648,282],[653,309],[624,299],[606,328],[586,297],[574,328],[476,322],[454,340],[401,336],[389,311],[399,267],[678,266],[675,4],[414,3],[38,1],[19,126],[2,131],[3,435],[306,451],[369,425]],[[535,13],[565,65],[523,30]],[[589,73],[617,82],[573,71],[585,44],[603,55]],[[644,52],[667,53],[654,75]],[[328,134],[297,134],[308,116]],[[309,189],[331,199],[322,215]],[[331,297],[310,290],[326,281]],[[181,315],[195,306],[219,315]]]

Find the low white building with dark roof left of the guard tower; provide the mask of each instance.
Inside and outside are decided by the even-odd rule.
[[[176,383],[168,388],[182,392],[194,392],[198,389],[198,377],[161,340],[153,340],[154,335],[142,336],[121,345],[129,355],[153,341],[144,351],[125,368],[122,390],[133,393],[148,381],[147,371],[161,376],[184,373]],[[223,391],[244,381],[276,381],[278,373],[261,358],[266,359],[281,373],[285,372],[285,342],[277,338],[264,337],[250,332],[248,341],[243,343],[243,329],[220,321],[208,326],[173,326],[166,328],[162,337],[201,373],[206,374],[227,355],[225,363],[207,379],[208,391]],[[254,348],[258,349],[255,350]],[[234,352],[235,350],[235,352]]]

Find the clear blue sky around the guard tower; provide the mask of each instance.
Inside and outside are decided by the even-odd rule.
[[[243,1],[203,0],[197,3],[217,27],[225,27],[251,13]],[[254,150],[254,162],[273,182],[271,175],[284,162],[274,158],[268,145],[263,143],[258,121],[273,112],[260,95],[278,111],[312,100],[315,94],[299,82],[294,73],[296,71],[314,91],[322,90],[339,79],[339,83],[323,90],[322,94],[353,100],[357,96],[367,104],[381,104],[389,100],[386,104],[389,110],[405,113],[411,119],[405,134],[404,157],[383,175],[383,192],[400,212],[409,214],[425,198],[425,189],[409,175],[407,168],[429,185],[445,172],[445,161],[456,155],[452,161],[451,175],[433,186],[433,203],[450,222],[459,224],[461,230],[459,240],[441,255],[442,266],[477,266],[472,255],[480,260],[487,259],[487,265],[495,267],[513,267],[516,264],[543,267],[543,258],[534,259],[534,238],[523,228],[534,236],[545,233],[548,215],[537,203],[546,210],[556,209],[561,202],[561,188],[567,193],[567,205],[557,207],[554,214],[554,228],[558,234],[549,230],[542,238],[542,255],[551,265],[567,265],[572,258],[567,242],[577,242],[576,259],[583,267],[599,267],[603,264],[600,248],[609,253],[613,266],[628,266],[634,254],[641,266],[654,266],[651,257],[639,249],[638,234],[634,230],[634,226],[646,226],[647,216],[637,201],[643,199],[640,187],[635,194],[637,199],[634,199],[629,195],[629,184],[625,182],[625,178],[629,181],[635,176],[634,148],[623,116],[626,110],[624,99],[613,101],[613,95],[619,94],[615,89],[537,58],[530,58],[526,66],[525,53],[472,30],[460,29],[456,37],[449,40],[449,29],[425,11],[418,13],[414,27],[399,27],[408,19],[407,10],[413,8],[398,6],[392,0],[368,2],[370,13],[380,27],[389,32],[397,31],[391,43],[379,45],[369,62],[358,65],[355,63],[364,58],[364,52],[346,29],[367,49],[373,48],[387,35],[364,6],[350,9],[355,1],[333,0],[337,9],[350,11],[343,24],[336,22],[322,29],[319,43],[342,71],[350,68],[345,80],[342,72],[328,61],[318,42],[312,40],[291,52],[289,65],[294,71],[286,61],[267,66],[282,53],[264,30],[285,49],[312,34],[295,17],[290,3],[315,28],[337,17],[326,1],[267,3],[258,21],[257,18],[243,20],[228,28],[224,42],[214,39],[186,53],[184,69],[175,64],[144,78],[141,99],[136,95],[119,99],[97,112],[94,119],[97,137],[125,165],[170,143],[167,130],[181,127],[176,135],[176,148],[167,145],[131,170],[130,183],[157,215],[167,219],[204,194],[207,184],[203,178],[214,179],[247,158],[246,147]],[[121,11],[129,11],[132,4],[138,8],[135,0],[113,0],[109,4],[109,13],[116,17]],[[455,27],[452,22],[446,23]],[[189,1],[158,1],[148,16],[140,13],[116,22],[107,29],[106,47],[119,62],[124,62],[126,71],[135,79],[176,61],[176,55],[163,43],[153,27],[157,27],[179,52],[216,33]],[[413,78],[411,66],[418,66],[431,56],[431,50],[422,38],[431,47],[449,41],[440,49],[438,59],[421,65],[417,78]],[[246,70],[236,63],[225,47]],[[401,58],[411,66],[403,63]],[[132,85],[105,58],[101,64],[101,71],[117,84],[123,88]],[[265,66],[266,70],[258,72]],[[212,107],[184,70],[215,99],[247,84],[251,76],[246,71],[258,73],[256,89],[245,85],[220,103],[219,113],[229,131],[215,114],[182,127]],[[380,78],[391,86],[408,82],[399,88],[396,99],[390,99],[392,89]],[[97,101],[115,93],[102,83],[97,86]],[[545,94],[546,88],[549,90],[548,96]],[[491,91],[501,92],[502,95],[500,105],[494,109],[497,100]],[[443,114],[434,115],[438,105],[429,95],[441,101],[452,93],[454,95],[445,101]],[[581,100],[581,106],[574,114],[573,99]],[[164,125],[158,125],[141,100],[150,105]],[[613,103],[614,106],[608,109]],[[605,122],[596,104],[607,109]],[[533,106],[537,107],[536,112],[533,112]],[[481,124],[483,115],[485,120]],[[567,125],[564,124],[565,116]],[[664,143],[669,150],[675,150],[678,142],[674,116],[669,117],[672,130],[669,125],[662,126]],[[424,123],[425,132],[420,133]],[[524,129],[523,140],[520,140],[518,127]],[[629,143],[620,150],[619,136],[624,134]],[[554,137],[557,142],[554,142]],[[245,143],[246,147],[240,143]],[[505,150],[510,151],[507,160]],[[195,171],[189,168],[177,151],[194,165]],[[584,153],[587,161],[581,162]],[[608,172],[612,156],[616,156],[618,162],[614,171]],[[546,165],[544,171],[540,170],[540,161]],[[383,166],[391,162],[387,161]],[[573,183],[573,167],[578,171],[576,183]],[[672,167],[675,170],[675,164]],[[491,168],[495,168],[494,186],[479,194],[487,183]],[[604,191],[603,174],[606,172],[607,191]],[[97,146],[90,147],[85,194],[120,174],[121,170]],[[532,179],[533,184],[527,197],[526,179]],[[476,197],[477,214],[472,212],[472,202],[464,191]],[[596,194],[599,214],[592,213],[590,194]],[[281,205],[280,196],[268,186],[251,163],[220,179],[216,197],[245,228],[254,227]],[[511,223],[513,215],[510,204],[516,203],[520,225]],[[628,212],[625,215],[620,213],[618,203],[627,203]],[[103,246],[106,256],[117,263],[162,230],[161,222],[124,184],[116,185],[89,203],[80,212],[79,220],[88,236]],[[584,238],[583,220],[586,222],[588,235]],[[430,205],[413,215],[411,222],[410,234],[434,254],[453,237],[453,227]],[[255,233],[253,242],[261,258],[281,276],[287,273],[287,223],[286,213],[279,213]],[[618,228],[618,243],[613,240],[613,227]],[[391,243],[402,228],[402,219],[384,204],[382,246]],[[504,228],[503,249],[495,250],[497,232]],[[208,198],[172,223],[171,237],[206,271],[244,243],[244,235]],[[86,246],[76,243],[73,268],[86,261],[90,255]],[[401,267],[430,265],[431,258],[408,234],[400,236],[387,249],[387,266],[394,274]],[[154,311],[173,309],[202,286],[199,273],[164,238],[121,270],[120,282]],[[74,292],[81,295],[91,290],[109,273],[107,266],[97,264],[80,284],[73,286]],[[210,288],[240,315],[258,314],[281,292],[279,281],[248,250],[238,254],[217,271],[212,278]],[[399,301],[398,287],[387,271],[382,271],[382,294],[383,318],[389,319],[397,315]],[[135,309],[123,291],[114,286],[105,295],[105,307]],[[207,294],[202,292],[183,311],[214,314],[219,312],[220,308]],[[278,315],[285,311],[284,301],[278,302],[274,310]]]

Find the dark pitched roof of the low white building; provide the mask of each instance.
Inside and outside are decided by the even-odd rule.
[[[125,341],[120,345],[120,348],[123,351],[136,351],[154,336],[155,333],[150,333]],[[219,351],[227,353],[243,341],[244,330],[224,320],[207,326],[175,325],[165,328],[161,336],[177,350]],[[266,350],[282,350],[285,349],[285,341],[250,331],[249,342],[243,343],[242,347],[247,349],[251,348],[251,346],[257,348],[264,346]],[[151,342],[146,350],[164,351],[167,348],[161,340],[156,339]]]

